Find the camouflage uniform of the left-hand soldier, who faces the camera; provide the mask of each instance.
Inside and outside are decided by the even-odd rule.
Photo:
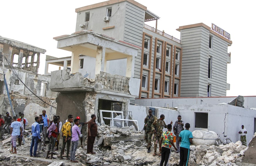
[[[151,138],[154,132],[154,130],[151,130],[151,125],[155,121],[156,117],[152,115],[150,118],[149,116],[147,116],[146,118],[147,119],[144,120],[144,123],[146,124],[144,138],[146,140],[146,143],[148,144],[147,148],[151,148]]]

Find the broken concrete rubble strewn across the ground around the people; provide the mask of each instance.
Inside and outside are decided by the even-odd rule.
[[[151,153],[147,153],[145,140],[143,140],[144,133],[136,131],[134,127],[123,128],[111,128],[104,124],[98,124],[98,137],[95,141],[94,152],[96,154],[87,154],[87,146],[79,147],[76,151],[76,160],[80,160],[82,163],[91,163],[97,165],[147,165],[157,166],[160,163],[161,157],[153,157],[153,142],[151,147]],[[5,139],[9,135],[5,135]],[[141,138],[136,139],[136,138]],[[7,138],[8,139],[8,138]],[[6,139],[6,140],[7,140]],[[9,158],[9,164],[15,162],[16,164],[22,163],[23,165],[30,165],[36,161],[29,160],[29,148],[31,138],[25,138],[26,144],[17,147],[17,154],[11,155],[10,142],[0,144],[0,159]],[[2,141],[3,142],[3,141]],[[189,165],[191,166],[237,166],[236,162],[241,162],[244,156],[244,151],[247,149],[240,141],[236,143],[230,143],[220,146],[207,146],[207,145],[191,145]],[[159,153],[159,148],[157,149]],[[60,150],[56,151],[53,156],[55,158],[60,154]],[[24,156],[24,161],[21,158],[17,158],[17,155]],[[40,154],[41,158],[45,157],[44,153]],[[26,159],[28,158],[28,160]],[[38,158],[40,160],[40,158]],[[27,161],[26,161],[27,160]],[[58,160],[64,161],[68,160]],[[45,163],[46,164],[46,163]],[[179,164],[179,153],[172,153],[169,158],[169,165]]]

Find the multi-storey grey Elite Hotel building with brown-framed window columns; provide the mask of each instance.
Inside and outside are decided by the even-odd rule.
[[[227,62],[230,58],[227,48],[232,41],[203,23],[179,27],[179,40],[158,30],[159,17],[133,0],[109,0],[75,11],[77,33],[92,31],[140,47],[132,60],[131,71],[132,77],[140,79],[138,98],[226,95],[229,86],[226,83]],[[147,25],[148,21],[155,21],[156,27]],[[209,42],[211,48],[208,47]],[[96,61],[86,53],[80,55],[84,56],[84,62],[94,64]],[[110,58],[106,58],[104,71],[126,76],[128,59],[118,53],[114,58],[107,57]],[[80,59],[76,67],[71,65],[71,72],[91,73],[90,78],[94,79],[95,71],[91,71],[89,64],[80,70]]]

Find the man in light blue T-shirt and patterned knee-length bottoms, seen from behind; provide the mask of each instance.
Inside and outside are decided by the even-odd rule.
[[[13,123],[11,123],[11,152],[16,154],[16,141],[18,136],[22,137],[21,123],[17,121],[17,117],[13,116]],[[14,152],[13,152],[14,148]]]

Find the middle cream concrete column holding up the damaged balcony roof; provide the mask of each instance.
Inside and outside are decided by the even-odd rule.
[[[100,74],[101,71],[104,71],[105,52],[105,47],[97,46],[95,74]]]

